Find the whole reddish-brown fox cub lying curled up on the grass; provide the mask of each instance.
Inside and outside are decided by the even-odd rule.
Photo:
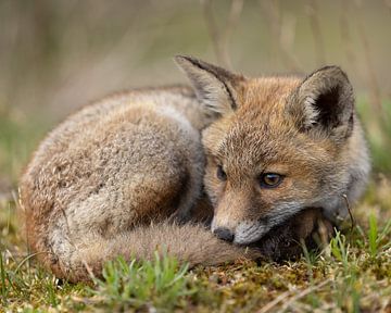
[[[52,130],[21,178],[31,251],[58,277],[166,249],[191,266],[289,256],[346,215],[369,161],[337,66],[249,78],[176,57],[191,87],[117,93]]]

